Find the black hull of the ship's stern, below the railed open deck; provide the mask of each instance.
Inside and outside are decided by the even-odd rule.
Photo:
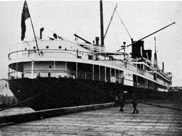
[[[121,84],[68,78],[13,79],[10,89],[34,110],[112,102]]]

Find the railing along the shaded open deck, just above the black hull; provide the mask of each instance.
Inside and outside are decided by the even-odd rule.
[[[97,74],[91,72],[83,71],[70,71],[70,70],[26,70],[24,72],[11,71],[9,72],[9,79],[23,79],[23,78],[39,78],[39,77],[55,77],[55,78],[72,78],[72,79],[85,79],[94,81],[104,81],[104,82],[117,82],[123,83],[123,78],[119,76],[109,76],[104,74]],[[111,80],[112,78],[115,81]]]

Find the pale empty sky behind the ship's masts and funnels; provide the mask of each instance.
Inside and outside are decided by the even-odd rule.
[[[21,13],[24,1],[0,1],[0,79],[7,78],[9,48],[21,43]],[[99,1],[27,0],[36,36],[45,28],[44,38],[52,33],[74,41],[76,33],[88,41],[100,36]],[[123,42],[130,44],[130,37],[121,23],[124,22],[134,40],[138,40],[172,23],[172,25],[144,40],[144,48],[154,51],[154,37],[158,65],[164,62],[166,72],[173,74],[173,86],[182,86],[182,1],[103,1],[104,30],[114,7],[113,17],[106,35],[106,51],[116,51]],[[118,16],[119,15],[119,16]],[[26,20],[25,40],[32,40],[30,19]],[[131,51],[129,47],[127,52]]]

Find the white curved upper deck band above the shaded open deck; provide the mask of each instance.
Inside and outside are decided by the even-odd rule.
[[[116,59],[115,55],[106,56],[98,55],[101,50],[99,46],[93,46],[87,44],[87,48],[65,40],[39,40],[39,50],[36,49],[34,41],[23,42],[11,48],[9,57],[9,65],[15,63],[25,63],[32,61],[67,61],[67,62],[82,62],[86,64],[101,65],[112,67],[115,69],[123,69],[131,72],[135,72],[137,75],[143,75],[146,78],[152,79],[153,75],[150,72],[144,72],[137,69],[136,66],[121,59]]]

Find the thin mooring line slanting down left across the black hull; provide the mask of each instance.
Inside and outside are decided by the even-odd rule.
[[[60,78],[59,78],[59,79],[60,79]],[[21,101],[21,102],[19,102],[19,103],[17,103],[17,104],[13,104],[13,105],[10,105],[10,106],[8,106],[8,107],[5,107],[5,108],[1,109],[0,112],[1,112],[1,111],[4,111],[4,110],[7,110],[7,109],[10,109],[10,108],[13,108],[13,107],[16,107],[16,106],[18,106],[18,105],[20,105],[20,104],[23,104],[23,103],[25,103],[25,102],[28,102],[28,101],[30,101],[30,100],[32,100],[32,99],[34,99],[34,98],[36,98],[36,97],[42,95],[42,94],[45,93],[45,92],[51,91],[51,88],[53,88],[53,87],[58,83],[59,79],[58,79],[51,87],[49,87],[49,88],[46,89],[45,91],[42,91],[41,93],[36,94],[36,95],[34,95],[34,96],[32,96],[32,97],[30,97],[30,98],[28,98],[28,99],[25,99],[25,100],[23,100],[23,101]]]

